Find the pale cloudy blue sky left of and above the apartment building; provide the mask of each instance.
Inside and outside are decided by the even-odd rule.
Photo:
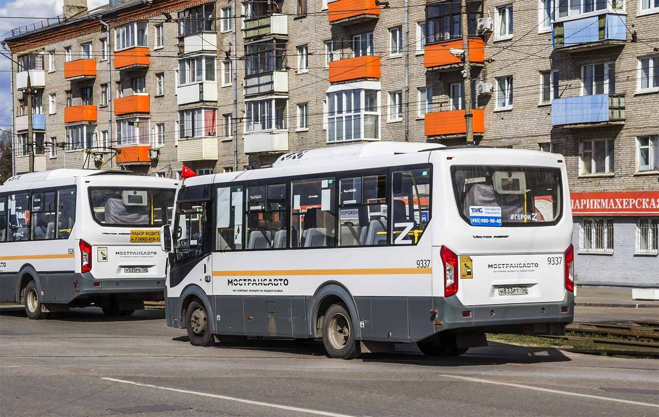
[[[107,4],[107,0],[88,0],[89,9]],[[0,0],[0,40],[11,30],[62,14],[63,0]],[[4,49],[0,52],[5,53]],[[9,53],[7,53],[9,55]],[[15,59],[15,58],[14,58]],[[11,126],[11,61],[0,56],[0,126]],[[15,90],[14,90],[15,91]]]

